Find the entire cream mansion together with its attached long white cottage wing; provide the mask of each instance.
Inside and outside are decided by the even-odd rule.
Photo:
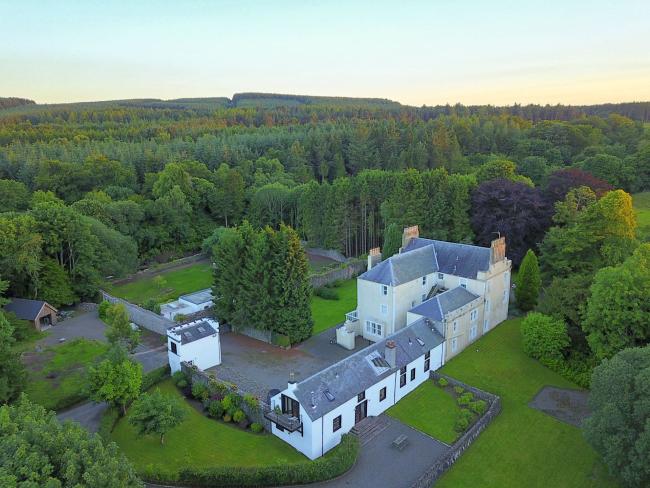
[[[310,459],[368,416],[397,403],[465,347],[507,318],[511,262],[505,239],[489,248],[420,238],[404,230],[400,253],[371,251],[357,278],[357,310],[337,342],[373,345],[271,398],[272,432]]]

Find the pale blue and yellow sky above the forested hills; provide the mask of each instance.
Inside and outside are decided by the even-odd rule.
[[[0,0],[0,96],[650,100],[650,0]]]

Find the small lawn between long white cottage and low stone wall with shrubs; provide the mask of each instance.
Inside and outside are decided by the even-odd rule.
[[[460,407],[454,398],[433,381],[426,381],[386,411],[391,417],[452,444],[458,437],[454,430]]]

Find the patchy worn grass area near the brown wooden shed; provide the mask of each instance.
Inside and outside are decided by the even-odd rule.
[[[52,410],[83,400],[86,367],[107,349],[108,345],[99,341],[76,339],[42,352],[26,353],[27,395]]]

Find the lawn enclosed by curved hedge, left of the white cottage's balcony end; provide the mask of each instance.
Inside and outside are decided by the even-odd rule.
[[[155,388],[183,399],[171,380]],[[180,468],[218,466],[268,466],[306,461],[302,454],[270,434],[252,434],[237,427],[210,419],[184,402],[185,421],[165,436],[138,437],[128,422],[128,414],[120,419],[112,439],[140,472],[176,473]]]

